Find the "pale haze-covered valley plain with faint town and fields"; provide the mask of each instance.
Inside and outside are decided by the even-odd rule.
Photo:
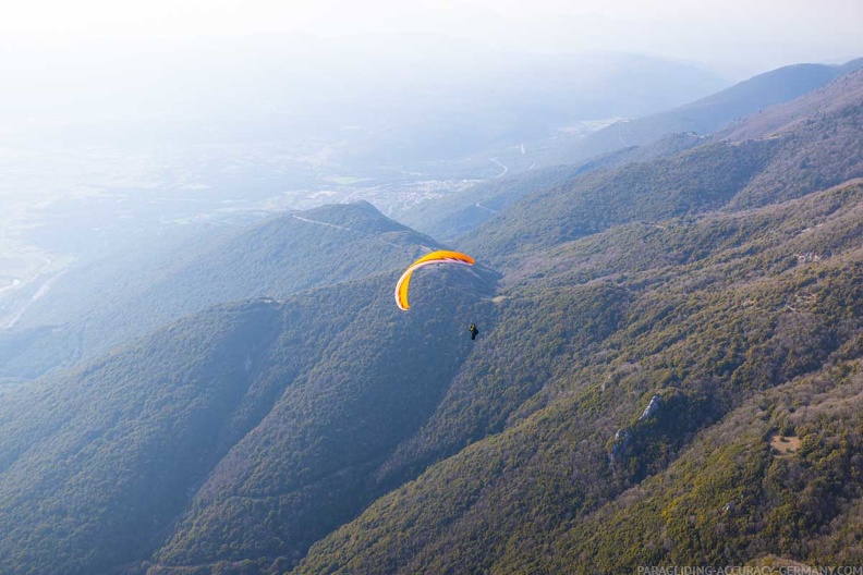
[[[158,54],[151,68],[110,68],[106,79],[97,72],[127,60],[100,47],[37,52],[53,75],[34,79],[31,71],[3,95],[8,295],[38,293],[76,261],[141,249],[183,228],[357,199],[398,217],[545,166],[549,149],[618,118],[722,85],[690,64],[625,54],[501,62],[505,54],[483,52],[478,71],[451,61],[430,68],[438,51],[453,49],[447,45],[378,56],[369,68],[362,50],[328,53],[312,39],[210,48],[179,61]],[[289,58],[313,49],[314,58]],[[4,325],[27,301],[7,306]]]

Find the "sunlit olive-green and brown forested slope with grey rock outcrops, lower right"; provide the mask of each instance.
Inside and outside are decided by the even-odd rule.
[[[297,573],[859,563],[846,525],[863,494],[862,200],[854,183],[549,254],[501,292],[496,335],[521,337],[519,309],[536,310],[542,343],[524,348],[548,350],[557,369],[496,356],[506,383],[476,374],[452,409],[467,421],[437,416],[442,430],[422,433],[489,435],[317,543]],[[604,321],[567,313],[588,290]],[[483,406],[501,392],[522,397],[498,406],[496,426]]]

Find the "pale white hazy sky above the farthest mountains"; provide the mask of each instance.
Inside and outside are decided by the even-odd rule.
[[[2,16],[7,52],[10,40],[107,36],[170,45],[295,32],[332,41],[435,34],[506,51],[665,56],[734,79],[863,56],[861,0],[29,0],[7,3]]]

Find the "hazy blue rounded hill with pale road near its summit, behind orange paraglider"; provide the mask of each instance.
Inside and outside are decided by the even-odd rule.
[[[215,304],[364,278],[437,245],[358,203],[108,257],[56,282],[0,337],[0,377],[35,378]]]

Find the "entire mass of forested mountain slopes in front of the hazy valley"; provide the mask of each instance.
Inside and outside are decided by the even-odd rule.
[[[485,184],[406,313],[439,244],[365,204],[58,280],[0,343],[98,333],[0,394],[0,565],[863,564],[861,83]]]

